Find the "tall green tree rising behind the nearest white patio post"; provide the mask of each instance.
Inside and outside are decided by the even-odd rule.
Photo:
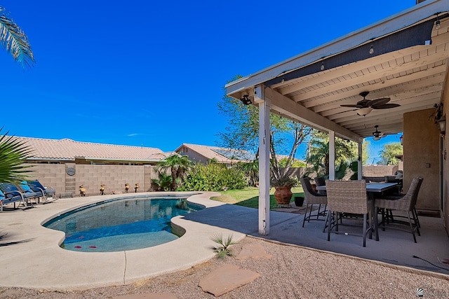
[[[236,76],[232,81],[241,78]],[[254,105],[242,105],[238,99],[227,97],[217,104],[220,113],[227,117],[229,126],[219,133],[220,146],[258,153],[259,109]],[[274,179],[285,177],[295,162],[297,148],[311,132],[311,127],[302,125],[277,114],[270,114],[270,155]],[[288,153],[285,167],[280,167],[276,153]],[[257,156],[257,154],[256,154]],[[258,158],[258,157],[257,157]]]

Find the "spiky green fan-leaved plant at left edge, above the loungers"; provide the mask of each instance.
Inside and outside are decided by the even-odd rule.
[[[0,132],[3,127],[0,128]],[[31,148],[15,137],[8,136],[8,132],[0,136],[0,182],[17,183],[27,179],[29,167],[23,165],[31,153]]]

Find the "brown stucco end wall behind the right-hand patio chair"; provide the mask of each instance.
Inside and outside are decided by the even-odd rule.
[[[415,176],[424,181],[416,208],[439,211],[440,148],[438,125],[431,118],[434,109],[405,113],[403,116],[404,192]]]

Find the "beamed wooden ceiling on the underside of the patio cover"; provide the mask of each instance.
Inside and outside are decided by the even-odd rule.
[[[326,69],[326,59],[323,59],[323,71],[270,83],[266,93],[275,102],[272,112],[308,125],[318,124],[315,127],[320,129],[332,130],[326,125],[330,120],[336,127],[342,127],[340,135],[344,137],[351,137],[344,134],[349,131],[353,137],[370,137],[375,125],[379,125],[384,134],[403,132],[404,113],[431,109],[441,102],[448,71],[449,18],[441,20],[438,29],[433,21],[431,27],[431,44],[394,50],[332,69]],[[257,103],[252,89],[233,92],[232,86],[227,88],[228,95],[239,98],[248,93],[253,103]],[[370,92],[366,99],[389,97],[389,103],[401,106],[375,109],[367,116],[358,116],[357,108],[340,106],[356,104],[363,99],[360,92],[366,91]],[[304,117],[302,107],[292,111],[294,106],[289,101],[307,109],[309,115]]]

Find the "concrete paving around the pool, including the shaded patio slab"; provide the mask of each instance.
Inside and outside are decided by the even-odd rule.
[[[180,193],[138,193],[138,195],[180,195]],[[64,211],[86,204],[128,195],[103,195],[60,199],[39,204],[26,211],[0,213],[1,257],[3,273],[0,286],[20,286],[47,290],[86,289],[93,286],[129,284],[158,274],[184,270],[215,256],[212,235],[232,234],[235,241],[258,234],[258,211],[234,204],[209,200],[218,193],[187,193],[189,201],[208,209],[172,222],[186,230],[173,242],[147,249],[108,253],[76,252],[61,249],[58,244],[64,232],[43,228],[42,223]],[[195,194],[195,195],[194,195]],[[284,211],[289,211],[285,209]],[[421,236],[413,242],[410,232],[380,230],[380,241],[367,239],[362,247],[360,228],[348,234],[333,234],[327,241],[323,221],[311,221],[302,228],[303,214],[270,211],[269,235],[264,239],[293,244],[314,250],[354,256],[380,263],[407,267],[408,270],[443,275],[449,279],[449,265],[438,258],[449,258],[449,237],[441,218],[420,216]],[[418,256],[419,258],[415,258]]]

